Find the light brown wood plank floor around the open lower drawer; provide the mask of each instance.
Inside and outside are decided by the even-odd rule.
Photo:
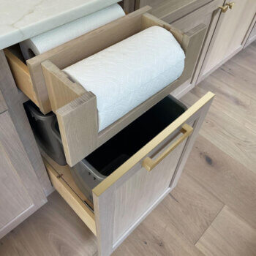
[[[216,94],[176,189],[113,253],[256,256],[256,42],[181,100]],[[96,239],[57,192],[0,240],[0,255],[96,256]]]

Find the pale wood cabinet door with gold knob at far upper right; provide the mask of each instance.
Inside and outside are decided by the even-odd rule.
[[[200,80],[221,66],[243,48],[244,37],[256,11],[255,0],[234,0],[232,9],[219,16],[211,45],[200,72]],[[229,1],[225,1],[228,4]]]

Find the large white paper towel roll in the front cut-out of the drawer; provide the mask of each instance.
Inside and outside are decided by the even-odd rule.
[[[152,26],[63,70],[96,95],[101,131],[176,80],[184,59],[173,35]]]

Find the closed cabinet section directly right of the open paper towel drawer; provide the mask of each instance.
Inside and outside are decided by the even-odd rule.
[[[136,1],[136,7],[141,7],[146,4],[152,7],[151,13],[170,23],[171,26],[187,32],[199,24],[206,26],[206,37],[204,38],[200,55],[197,58],[197,64],[192,72],[192,76],[181,86],[178,86],[171,94],[176,98],[181,98],[189,90],[195,87],[197,78],[200,74],[200,69],[206,57],[206,52],[211,42],[211,37],[214,34],[214,29],[219,20],[219,6],[224,4],[225,0],[140,0]]]

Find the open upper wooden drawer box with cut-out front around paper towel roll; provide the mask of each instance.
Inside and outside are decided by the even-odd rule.
[[[27,66],[6,50],[12,73],[20,89],[39,106],[42,113],[48,113],[50,110],[56,113],[64,144],[64,153],[70,166],[75,165],[102,143],[112,138],[113,135],[116,135],[135,118],[138,118],[192,76],[206,33],[206,26],[198,25],[187,33],[183,33],[146,13],[150,9],[151,7],[143,7],[64,45],[29,59]],[[72,83],[61,69],[155,25],[170,31],[181,44],[186,54],[184,72],[180,78],[170,83],[165,89],[98,132],[95,95],[83,89],[83,86],[78,83]]]

